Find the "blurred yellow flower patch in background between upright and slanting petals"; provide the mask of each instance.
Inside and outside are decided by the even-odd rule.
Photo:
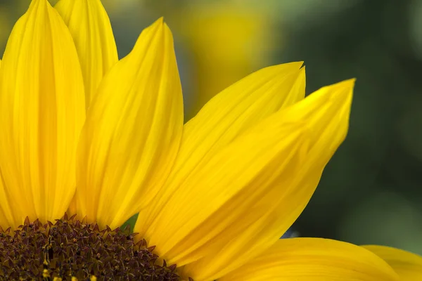
[[[188,117],[222,89],[270,63],[276,33],[271,19],[252,7],[205,4],[174,13],[169,21],[193,55],[195,100]]]

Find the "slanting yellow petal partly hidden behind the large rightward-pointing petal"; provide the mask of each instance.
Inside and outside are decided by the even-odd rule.
[[[172,174],[160,197],[138,218],[140,236],[196,166],[208,162],[246,129],[304,98],[305,68],[301,65],[286,63],[250,74],[212,98],[185,124]]]

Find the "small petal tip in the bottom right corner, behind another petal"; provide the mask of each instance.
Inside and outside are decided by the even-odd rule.
[[[422,256],[392,247],[362,246],[386,261],[404,281],[422,280]]]

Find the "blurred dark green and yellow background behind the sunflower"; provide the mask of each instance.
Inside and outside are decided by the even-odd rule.
[[[0,0],[0,51],[29,0]],[[53,4],[55,1],[51,1]],[[350,133],[328,164],[300,236],[422,254],[422,1],[103,0],[120,57],[164,15],[186,120],[224,87],[304,60],[307,93],[357,77]]]

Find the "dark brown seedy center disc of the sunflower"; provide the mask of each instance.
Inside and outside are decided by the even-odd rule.
[[[100,230],[75,216],[0,232],[0,280],[180,280],[129,227]]]

